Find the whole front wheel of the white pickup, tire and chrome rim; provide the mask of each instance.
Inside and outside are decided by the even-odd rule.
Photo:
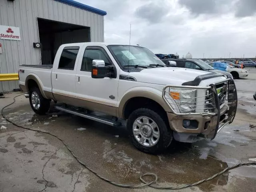
[[[172,131],[163,118],[153,110],[140,108],[127,120],[132,144],[140,151],[158,154],[172,142]]]

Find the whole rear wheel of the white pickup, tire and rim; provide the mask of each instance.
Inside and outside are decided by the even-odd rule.
[[[48,112],[50,108],[50,100],[42,96],[38,87],[33,87],[30,89],[29,102],[32,110],[40,115]]]

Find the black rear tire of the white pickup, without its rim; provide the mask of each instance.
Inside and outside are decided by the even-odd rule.
[[[40,107],[38,109],[34,108],[32,104],[32,93],[36,92],[38,94],[39,100],[40,100]],[[38,87],[33,87],[29,90],[29,102],[32,110],[39,115],[44,115],[48,110],[50,109],[50,100],[44,98],[39,90]]]

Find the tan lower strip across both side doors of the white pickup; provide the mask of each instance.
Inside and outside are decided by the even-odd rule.
[[[116,107],[114,106],[108,106],[108,105],[90,102],[90,101],[86,101],[78,98],[63,96],[60,94],[53,94],[53,96],[57,101],[63,102],[65,104],[116,116]]]

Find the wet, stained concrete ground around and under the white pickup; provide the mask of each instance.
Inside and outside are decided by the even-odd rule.
[[[91,120],[60,113],[38,116],[24,96],[4,113],[19,125],[58,135],[83,162],[102,176],[124,184],[138,184],[141,174],[158,175],[158,184],[177,186],[208,178],[224,168],[256,158],[256,69],[247,68],[247,78],[235,80],[238,111],[234,122],[212,141],[194,144],[174,142],[164,154],[153,156],[136,150],[125,127],[114,128]],[[252,89],[254,88],[254,90]],[[0,108],[17,93],[0,99]],[[157,191],[153,188],[118,188],[83,168],[53,136],[23,130],[0,118],[0,192],[91,192]],[[77,130],[86,128],[85,130]],[[240,167],[187,188],[190,191],[256,191],[256,168]]]

